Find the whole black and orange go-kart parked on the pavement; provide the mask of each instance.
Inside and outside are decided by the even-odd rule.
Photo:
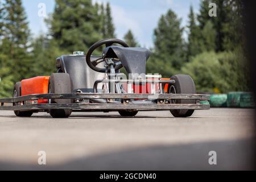
[[[93,56],[99,48],[101,56]],[[53,118],[67,118],[72,111],[118,111],[133,117],[143,110],[170,110],[174,117],[189,117],[194,110],[210,109],[200,104],[209,96],[196,94],[191,76],[146,75],[150,54],[119,39],[102,39],[86,55],[57,57],[51,76],[16,82],[13,98],[0,99],[0,110],[14,110],[18,117],[44,111]]]

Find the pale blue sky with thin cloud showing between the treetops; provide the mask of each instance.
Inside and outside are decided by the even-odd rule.
[[[28,21],[33,36],[47,32],[47,26],[43,16],[38,12],[44,3],[46,13],[53,12],[55,1],[53,0],[22,0],[26,10]],[[109,2],[112,9],[112,17],[117,38],[123,39],[126,32],[131,29],[135,38],[143,47],[153,46],[154,28],[162,14],[168,9],[175,11],[177,16],[182,19],[181,26],[188,23],[189,6],[193,6],[195,13],[199,11],[200,0],[93,0],[93,3]],[[184,39],[187,38],[184,32]]]

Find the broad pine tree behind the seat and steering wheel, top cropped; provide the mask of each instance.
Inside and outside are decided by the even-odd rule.
[[[52,19],[48,20],[51,35],[61,49],[86,51],[100,38],[100,21],[91,0],[56,0]]]

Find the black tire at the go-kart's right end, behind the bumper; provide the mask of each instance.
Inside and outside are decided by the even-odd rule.
[[[189,75],[174,75],[171,77],[175,80],[175,84],[168,86],[168,93],[177,94],[196,94],[195,82]],[[175,89],[175,90],[174,90]],[[175,91],[175,92],[174,92]],[[196,104],[195,100],[171,100],[171,103],[175,104]],[[193,114],[192,109],[171,109],[170,110],[174,117],[189,117]]]

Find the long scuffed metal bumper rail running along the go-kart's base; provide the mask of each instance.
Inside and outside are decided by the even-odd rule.
[[[42,99],[72,99],[74,103],[38,104]],[[106,103],[91,103],[90,100],[104,99]],[[175,104],[175,100],[188,100],[195,104]],[[148,102],[150,101],[150,102]],[[195,101],[195,102],[194,102]],[[170,110],[193,109],[207,110],[209,105],[200,104],[209,101],[204,94],[118,94],[118,93],[65,93],[65,94],[31,94],[15,98],[0,99],[0,110],[49,110],[72,109],[81,111],[115,111],[115,110]],[[188,102],[188,103],[189,103]],[[16,103],[16,104],[15,104]],[[15,104],[15,105],[14,105]],[[14,105],[14,106],[13,106]]]

